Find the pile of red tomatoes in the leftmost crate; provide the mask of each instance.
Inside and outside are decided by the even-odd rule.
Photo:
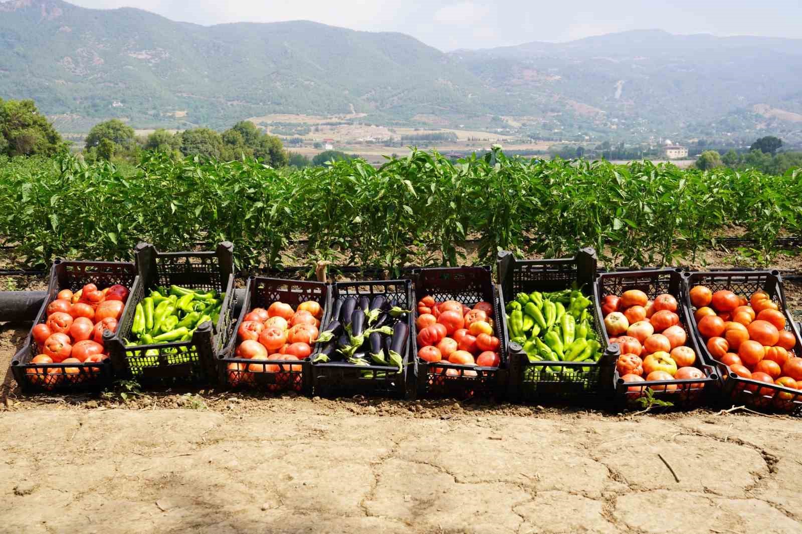
[[[47,305],[47,320],[31,330],[38,354],[30,360],[35,365],[49,363],[103,362],[108,355],[103,350],[103,331],[117,330],[123,314],[128,288],[111,285],[98,289],[95,284],[84,285],[77,293],[63,289]],[[91,367],[98,373],[98,367]],[[27,378],[34,384],[53,389],[68,380],[81,379],[79,367],[30,367]]]

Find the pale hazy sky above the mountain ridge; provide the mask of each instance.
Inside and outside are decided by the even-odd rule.
[[[68,0],[139,7],[173,20],[314,20],[354,30],[400,31],[443,51],[569,41],[614,31],[802,37],[802,0]]]

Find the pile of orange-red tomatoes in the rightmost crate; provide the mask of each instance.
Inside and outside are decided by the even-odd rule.
[[[796,337],[786,330],[785,314],[768,293],[747,297],[723,289],[713,293],[704,285],[691,288],[699,334],[716,361],[742,378],[802,389],[802,358],[794,353]],[[747,390],[772,395],[771,388],[747,385]],[[780,393],[780,398],[794,394]]]

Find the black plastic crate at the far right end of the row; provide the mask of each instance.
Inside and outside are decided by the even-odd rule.
[[[695,285],[706,285],[714,293],[720,289],[729,289],[733,293],[745,295],[747,298],[751,297],[751,294],[759,289],[764,290],[785,315],[785,330],[793,332],[794,338],[796,338],[796,346],[794,346],[793,352],[797,356],[802,356],[802,338],[800,338],[799,326],[793,322],[791,314],[788,313],[780,271],[688,272],[683,273],[683,285],[685,303],[689,313],[693,309],[689,292]],[[718,367],[722,378],[721,403],[725,404],[725,406],[747,406],[761,411],[802,415],[802,390],[792,390],[784,386],[742,378],[732,373],[729,366],[715,360],[710,351],[707,350],[707,344],[704,342],[702,334],[699,334],[696,318],[692,313],[691,325],[705,358],[707,358],[708,362]],[[755,391],[749,390],[748,388],[750,387],[754,388]]]

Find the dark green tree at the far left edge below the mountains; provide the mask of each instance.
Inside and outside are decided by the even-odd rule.
[[[33,100],[0,99],[0,154],[51,156],[63,146],[61,136]]]

